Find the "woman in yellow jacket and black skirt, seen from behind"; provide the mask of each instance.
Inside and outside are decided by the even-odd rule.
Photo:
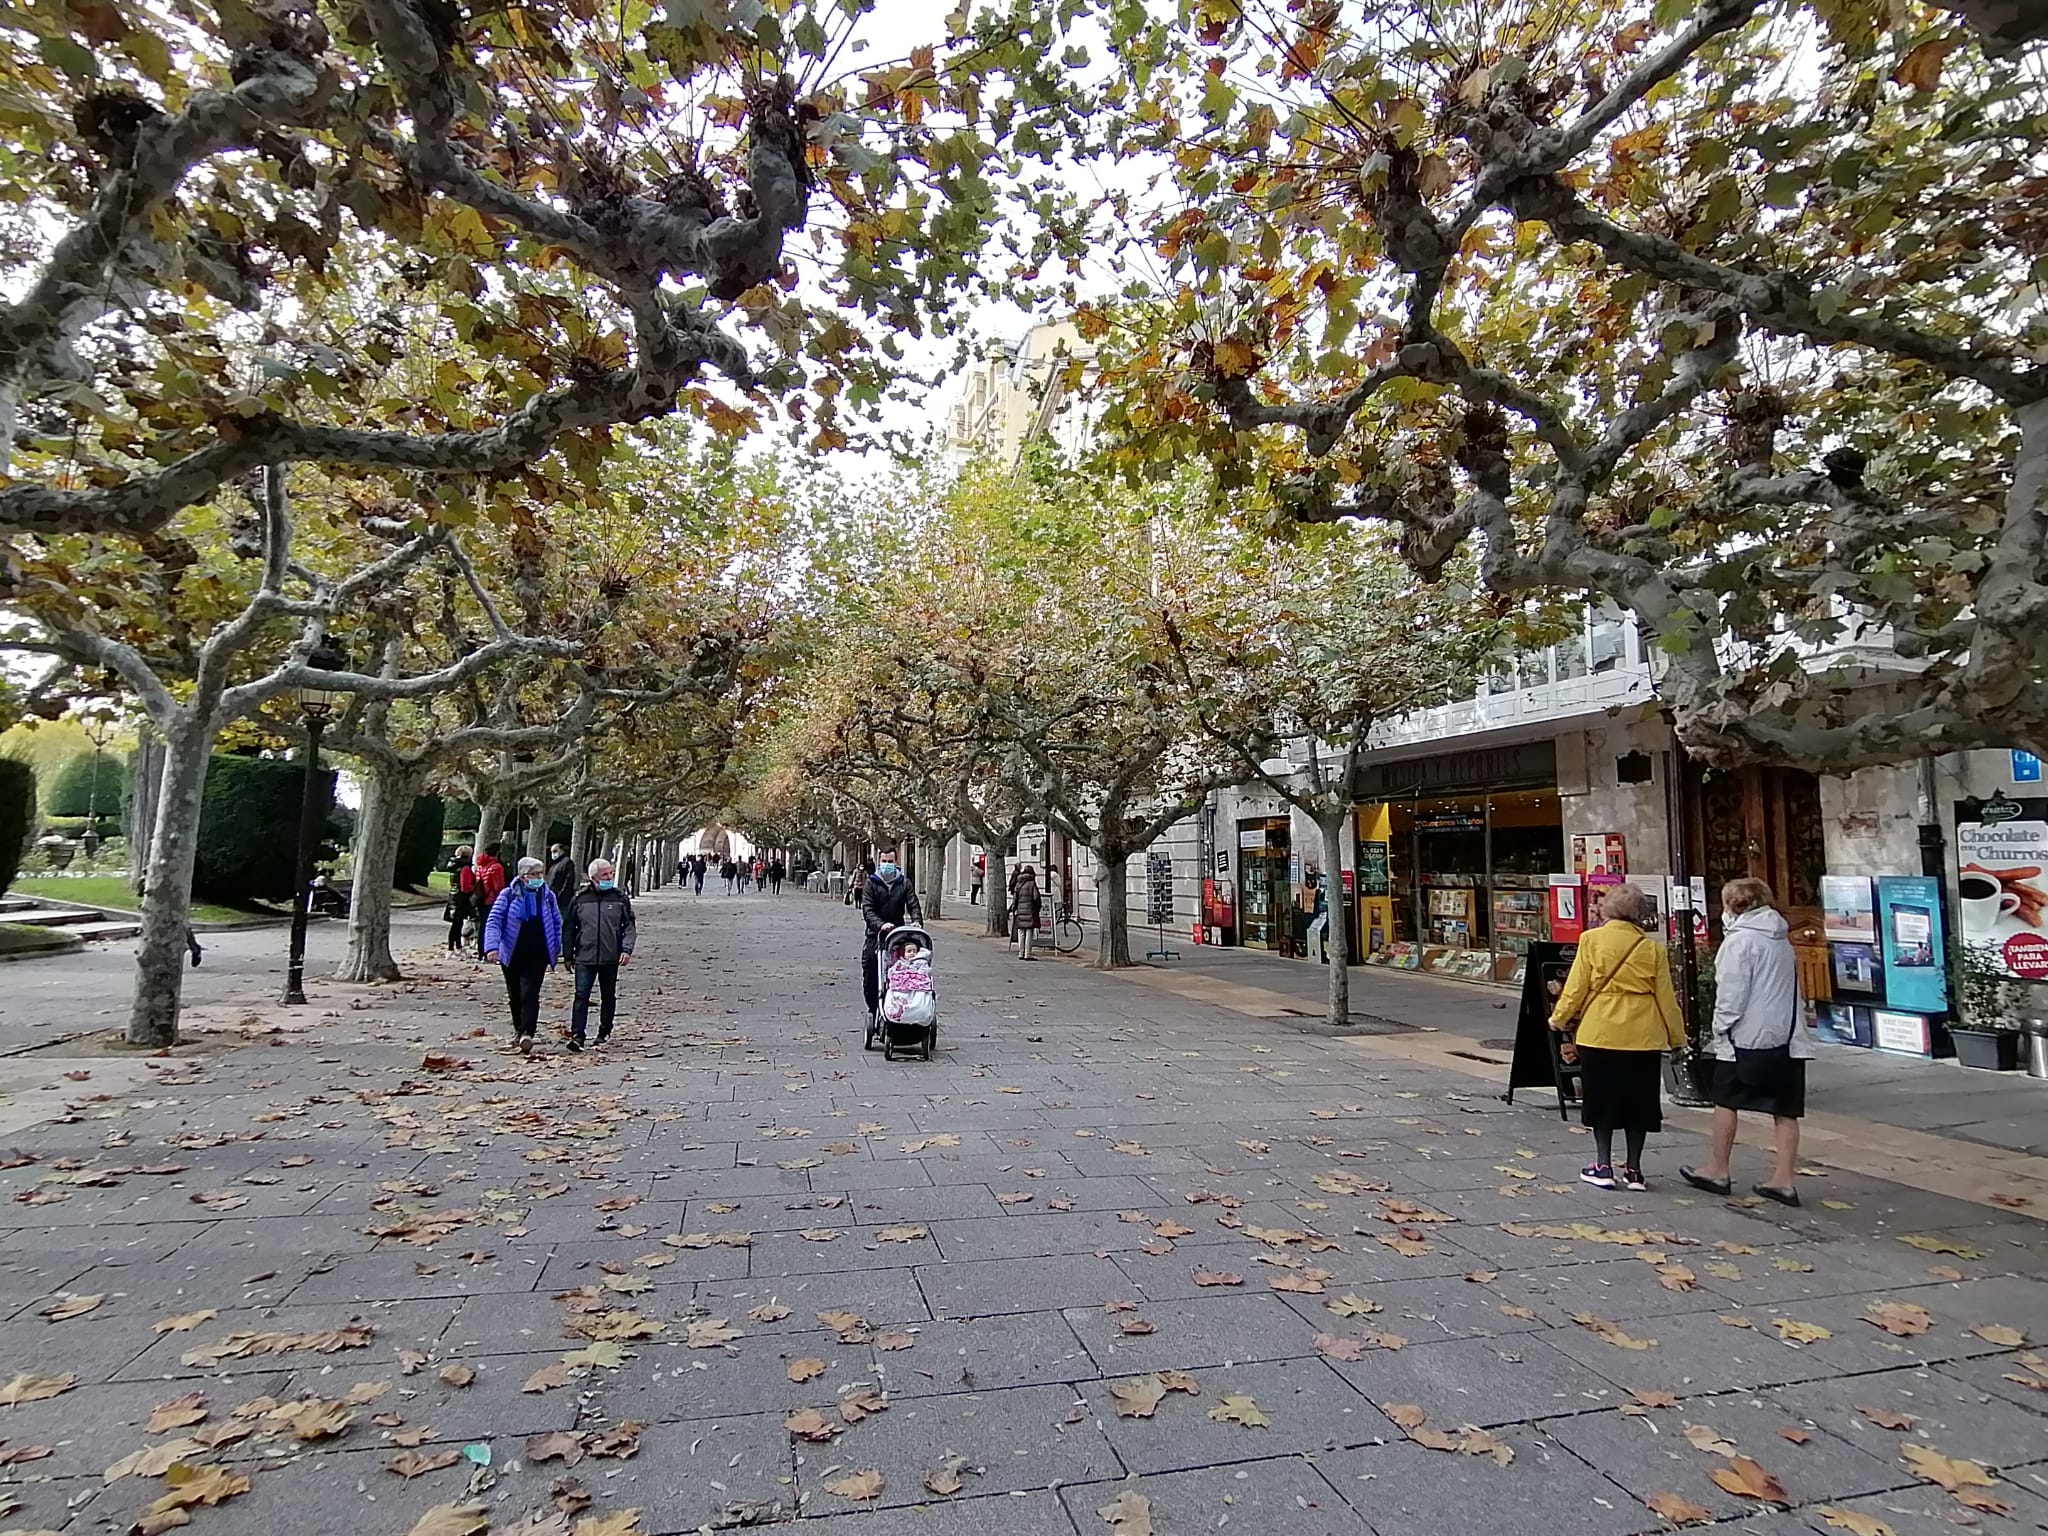
[[[1642,1139],[1663,1130],[1663,1053],[1686,1047],[1686,1022],[1671,987],[1671,958],[1642,932],[1649,897],[1632,885],[1608,891],[1606,922],[1579,940],[1579,954],[1550,1012],[1550,1028],[1577,1022],[1581,1116],[1593,1133],[1593,1163],[1579,1174],[1612,1190],[1647,1190]],[[1620,1178],[1614,1133],[1626,1137]]]

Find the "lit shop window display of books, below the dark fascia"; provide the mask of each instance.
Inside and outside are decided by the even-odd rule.
[[[1386,920],[1368,963],[1518,981],[1530,944],[1548,938],[1550,874],[1565,870],[1554,788],[1362,805],[1358,838],[1386,848]]]

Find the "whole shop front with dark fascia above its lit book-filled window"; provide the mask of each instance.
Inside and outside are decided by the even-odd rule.
[[[1360,801],[1368,965],[1520,981],[1567,868],[1554,743],[1374,764]]]

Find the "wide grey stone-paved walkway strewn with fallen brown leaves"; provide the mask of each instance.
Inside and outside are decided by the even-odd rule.
[[[0,1155],[0,1528],[2048,1528],[2030,1212],[1716,1202],[1683,1135],[1604,1194],[1554,1110],[985,940],[885,1063],[842,905],[641,907],[602,1053],[414,915],[403,987],[68,1079]]]

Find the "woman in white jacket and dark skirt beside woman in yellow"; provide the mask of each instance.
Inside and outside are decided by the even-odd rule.
[[[1806,1114],[1806,1063],[1815,1055],[1798,995],[1798,965],[1786,920],[1763,881],[1720,887],[1722,940],[1714,954],[1714,1147],[1704,1167],[1679,1176],[1708,1194],[1729,1194],[1729,1157],[1741,1110],[1772,1116],[1778,1167],[1753,1186],[1796,1206],[1798,1122]]]

